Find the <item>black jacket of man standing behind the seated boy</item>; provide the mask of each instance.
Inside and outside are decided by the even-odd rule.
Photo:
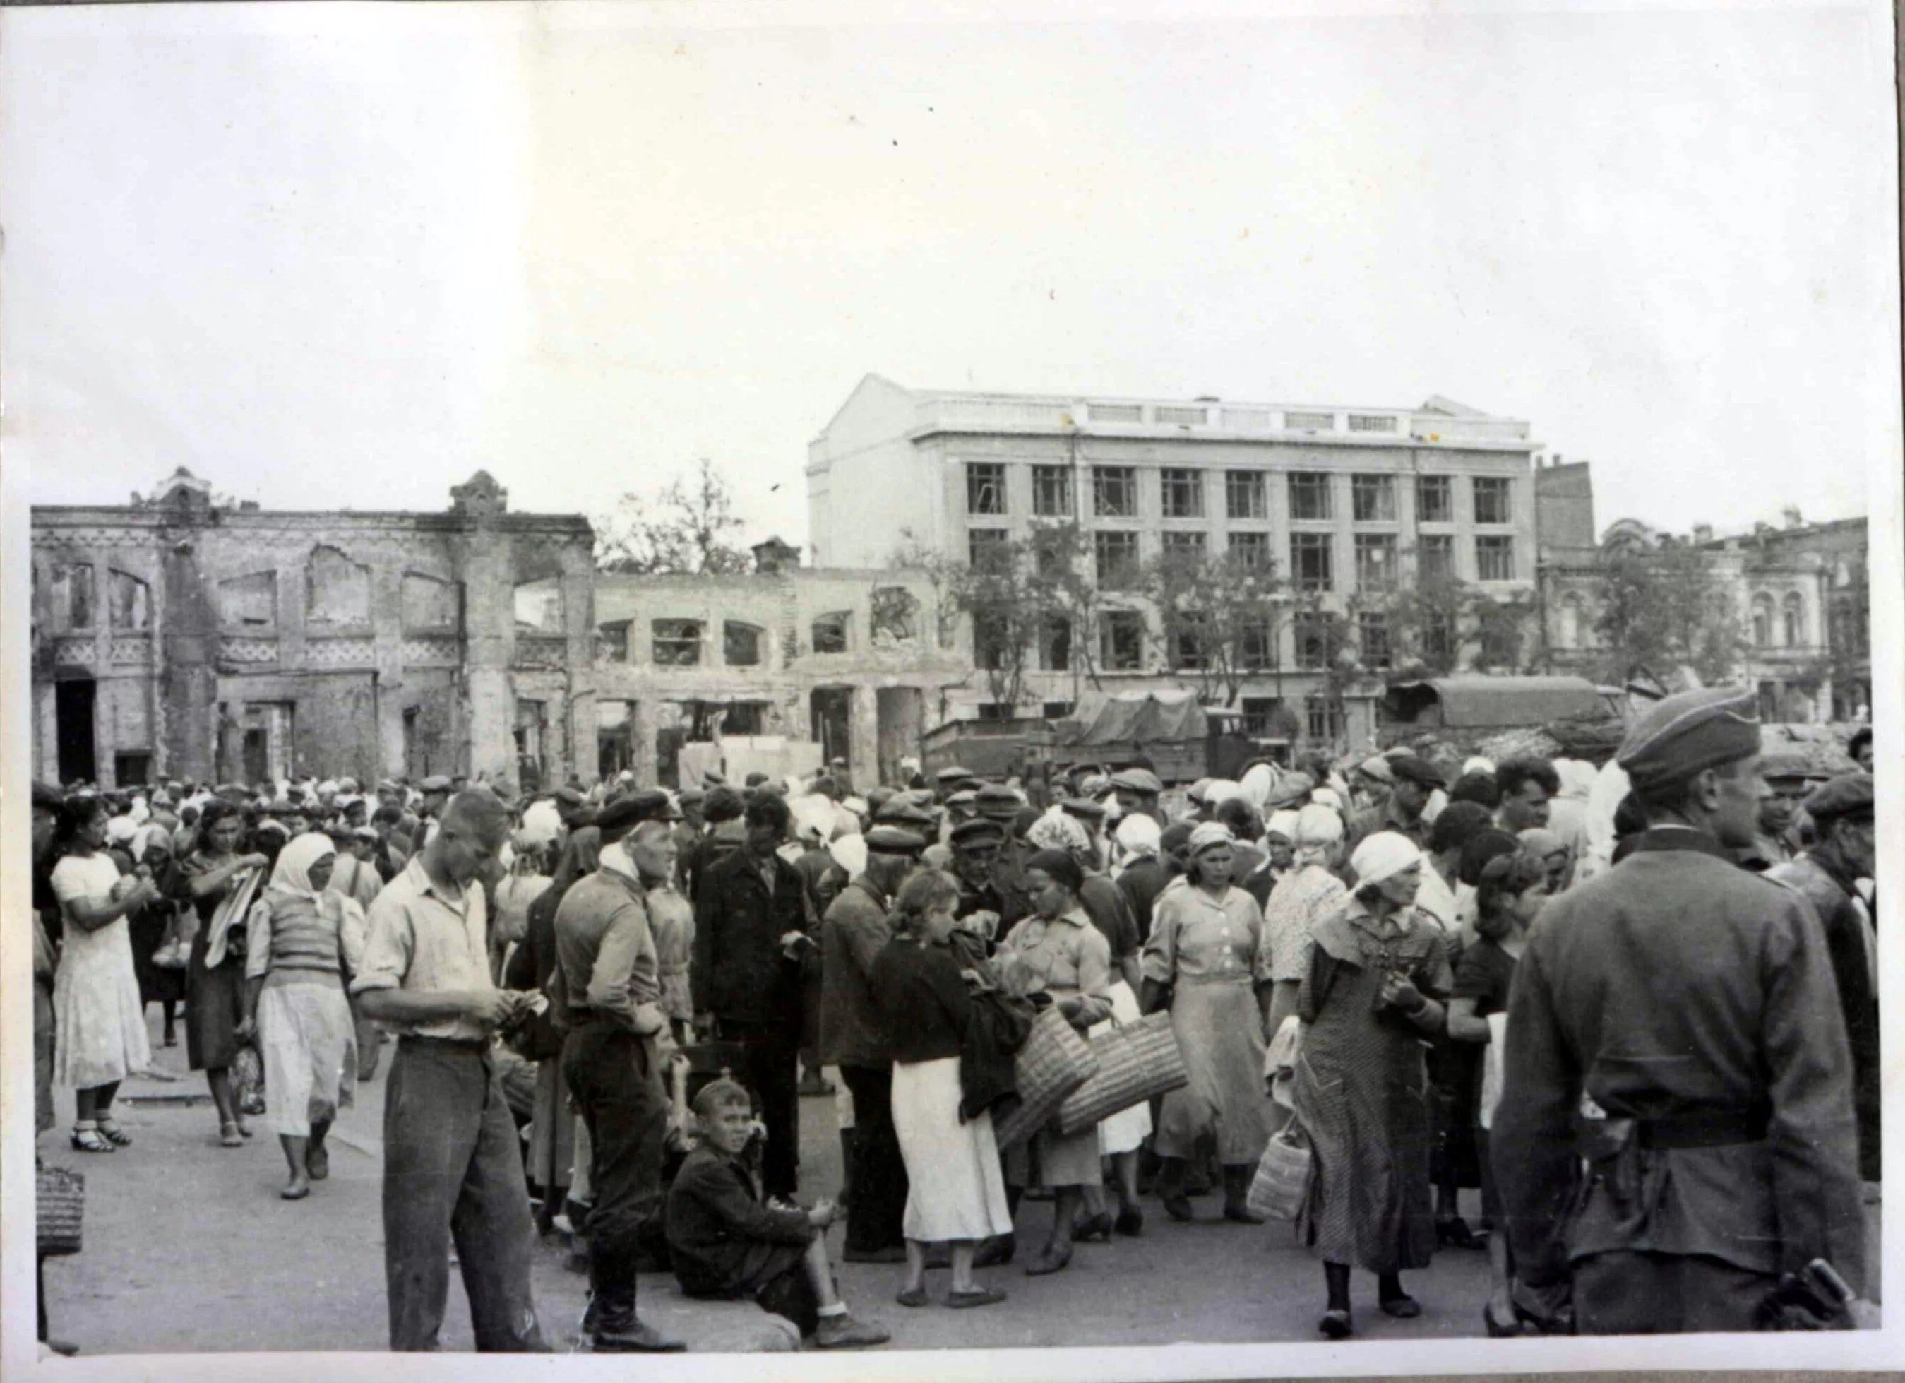
[[[695,1012],[739,1023],[785,1023],[800,1015],[800,962],[781,954],[781,935],[813,935],[806,880],[773,857],[773,892],[745,848],[701,876],[695,899],[695,958],[688,970]]]

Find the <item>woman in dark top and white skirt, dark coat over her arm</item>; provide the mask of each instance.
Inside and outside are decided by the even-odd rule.
[[[989,1307],[1004,1292],[972,1278],[979,1240],[1012,1233],[993,1114],[960,1118],[960,1048],[972,998],[947,945],[958,884],[937,871],[909,878],[893,903],[893,939],[872,962],[872,994],[893,1048],[893,1132],[907,1164],[907,1284],[899,1305],[926,1305],[926,1250],[952,1250],[949,1307]]]

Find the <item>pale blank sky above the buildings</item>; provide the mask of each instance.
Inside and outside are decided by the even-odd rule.
[[[707,455],[804,541],[867,371],[1448,394],[1593,459],[1600,526],[1897,465],[1884,6],[732,19],[4,11],[32,499],[600,512]]]

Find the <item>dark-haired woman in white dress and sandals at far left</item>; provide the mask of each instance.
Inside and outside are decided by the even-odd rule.
[[[53,975],[59,1015],[53,1084],[76,1092],[72,1147],[80,1152],[131,1143],[112,1118],[112,1097],[120,1080],[152,1059],[126,916],[156,901],[158,890],[149,878],[122,880],[105,844],[105,804],[95,796],[69,798],[55,836],[65,857],[53,865],[51,880],[65,924]]]

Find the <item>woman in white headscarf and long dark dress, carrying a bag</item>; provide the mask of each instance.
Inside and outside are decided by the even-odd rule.
[[[1314,1156],[1297,1233],[1324,1261],[1316,1328],[1332,1339],[1353,1330],[1351,1265],[1377,1274],[1385,1314],[1421,1314],[1402,1273],[1429,1267],[1436,1248],[1423,1038],[1440,1031],[1454,987],[1442,930],[1415,912],[1415,842],[1377,831],[1349,867],[1356,892],[1311,937],[1292,1092]]]

